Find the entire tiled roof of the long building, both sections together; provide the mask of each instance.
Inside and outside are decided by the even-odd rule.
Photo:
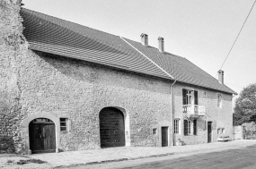
[[[31,49],[235,93],[183,57],[28,9],[21,15]]]

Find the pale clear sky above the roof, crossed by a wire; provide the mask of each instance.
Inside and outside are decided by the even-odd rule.
[[[22,0],[23,7],[140,41],[164,38],[164,50],[186,57],[216,77],[254,0]],[[256,4],[255,4],[256,5]],[[256,6],[222,70],[240,93],[256,83]]]

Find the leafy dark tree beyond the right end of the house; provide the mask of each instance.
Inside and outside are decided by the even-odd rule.
[[[235,100],[233,124],[256,122],[256,83],[244,88]]]

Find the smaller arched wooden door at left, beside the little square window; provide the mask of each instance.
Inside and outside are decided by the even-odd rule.
[[[55,124],[45,118],[30,123],[30,148],[32,153],[49,153],[56,150]]]

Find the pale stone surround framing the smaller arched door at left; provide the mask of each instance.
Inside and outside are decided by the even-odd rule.
[[[29,125],[32,120],[38,119],[38,118],[46,118],[52,121],[55,124],[55,134],[56,134],[56,152],[58,152],[59,148],[59,119],[57,116],[49,113],[35,113],[31,114],[28,117],[26,117],[24,120],[22,120],[21,123],[21,128],[22,128],[22,137],[25,139],[25,150],[27,151],[28,154],[31,154],[31,146],[30,146],[30,130],[29,130]]]

